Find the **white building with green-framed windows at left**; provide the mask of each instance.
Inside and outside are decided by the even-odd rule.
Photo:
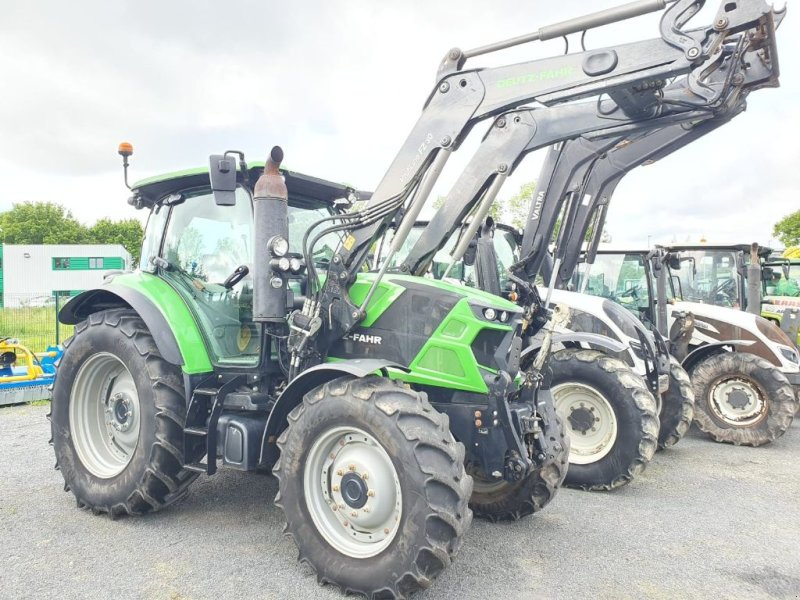
[[[44,306],[56,295],[97,287],[109,271],[130,269],[120,244],[0,246],[0,307]]]

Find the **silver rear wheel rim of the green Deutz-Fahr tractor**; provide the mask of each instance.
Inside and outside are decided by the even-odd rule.
[[[101,352],[81,365],[69,400],[72,441],[95,477],[119,475],[139,443],[139,394],[127,367]]]

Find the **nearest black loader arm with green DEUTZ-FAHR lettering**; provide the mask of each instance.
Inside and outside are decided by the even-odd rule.
[[[467,59],[536,39],[570,32],[661,10],[665,0],[639,0],[625,9],[611,9],[575,19],[529,36],[522,36],[474,51],[451,50],[440,65],[436,85],[422,115],[391,163],[363,210],[339,218],[339,224],[317,228],[304,243],[307,264],[315,243],[332,232],[343,235],[330,261],[324,283],[309,268],[310,291],[302,312],[294,313],[290,340],[294,370],[319,362],[328,348],[365,316],[377,289],[379,273],[362,305],[348,294],[349,285],[368,258],[370,248],[392,220],[399,222],[390,255],[405,241],[427,196],[450,154],[481,120],[537,102],[555,106],[581,98],[609,94],[624,107],[622,98],[650,96],[657,110],[657,88],[665,79],[690,73],[713,63],[723,43],[736,32],[770,30],[774,13],[763,0],[723,2],[714,25],[686,30],[686,22],[703,0],[678,0],[664,11],[661,37],[614,48],[483,69],[464,69]],[[694,91],[702,95],[701,86]],[[637,110],[643,110],[638,107]],[[402,218],[398,218],[402,214]],[[386,261],[386,265],[389,264]]]

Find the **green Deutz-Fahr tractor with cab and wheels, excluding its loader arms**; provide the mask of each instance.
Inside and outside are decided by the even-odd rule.
[[[479,290],[386,276],[359,326],[290,378],[296,331],[285,314],[259,319],[253,249],[260,236],[274,255],[279,312],[299,313],[308,271],[334,264],[340,239],[323,236],[306,263],[303,238],[356,191],[277,162],[261,188],[246,166],[222,194],[208,169],[133,186],[130,203],[150,212],[140,269],[60,315],[76,331],[53,390],[58,466],[79,507],[112,517],[172,504],[218,459],[274,467],[287,531],[321,580],[404,595],[449,564],[473,511],[545,506],[569,442],[540,380],[513,364],[521,310]],[[286,198],[261,200],[265,181]],[[287,230],[260,235],[259,202],[282,203]],[[351,298],[375,279],[360,274]]]

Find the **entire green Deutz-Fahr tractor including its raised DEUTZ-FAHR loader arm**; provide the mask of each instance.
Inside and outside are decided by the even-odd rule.
[[[481,120],[601,93],[621,104],[644,95],[656,110],[659,82],[716,66],[750,33],[773,37],[776,15],[759,0],[724,2],[713,25],[687,29],[702,4],[639,0],[451,50],[361,210],[339,210],[350,194],[341,186],[281,173],[278,147],[257,179],[228,151],[207,172],[134,186],[132,204],[150,211],[141,269],[60,314],[76,329],[56,376],[52,433],[79,506],[152,512],[219,460],[273,467],[300,560],[319,581],[373,598],[427,587],[473,512],[497,520],[541,509],[569,447],[543,365],[520,368],[523,329],[546,321],[541,305],[362,266],[392,221],[390,253],[402,245]],[[465,68],[655,10],[664,16],[652,40]],[[692,98],[716,94],[694,87]],[[120,153],[127,167],[131,148]]]

